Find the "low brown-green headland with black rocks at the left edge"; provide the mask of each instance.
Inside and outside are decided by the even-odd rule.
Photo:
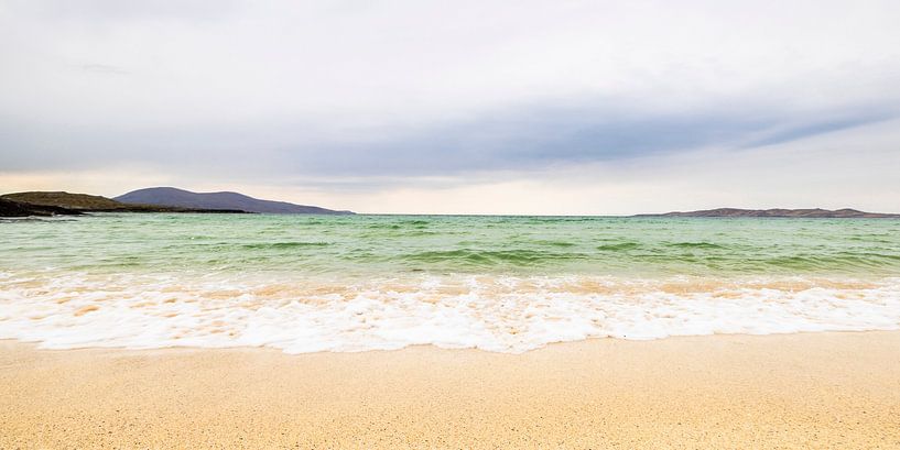
[[[245,212],[242,210],[220,210],[203,208],[178,208],[159,205],[134,205],[116,201],[106,197],[64,191],[30,191],[0,196],[0,199],[17,204],[8,205],[0,216],[11,217],[14,211],[31,210],[25,216],[51,216],[80,212]],[[18,209],[17,209],[18,208]],[[42,213],[44,212],[44,213]]]

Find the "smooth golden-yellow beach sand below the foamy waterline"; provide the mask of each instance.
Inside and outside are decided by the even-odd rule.
[[[432,347],[0,341],[0,448],[900,448],[900,332]]]

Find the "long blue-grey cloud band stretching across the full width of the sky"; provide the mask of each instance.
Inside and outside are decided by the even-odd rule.
[[[871,108],[874,110],[876,108]],[[722,107],[677,114],[626,108],[531,106],[463,122],[394,130],[347,131],[341,139],[305,133],[301,124],[185,127],[159,130],[13,125],[0,122],[0,166],[7,169],[93,168],[143,164],[204,176],[427,177],[547,165],[627,162],[715,146],[748,146],[880,121],[887,112],[834,119]],[[795,123],[784,128],[782,123]],[[361,183],[368,185],[369,183]]]

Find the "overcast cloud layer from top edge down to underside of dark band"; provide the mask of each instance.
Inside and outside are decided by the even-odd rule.
[[[741,152],[896,117],[897,4],[9,1],[0,173],[362,189]]]

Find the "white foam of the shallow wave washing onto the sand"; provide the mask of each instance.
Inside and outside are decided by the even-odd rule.
[[[0,338],[42,348],[411,344],[519,353],[587,338],[900,329],[900,278],[878,281],[2,274]]]

